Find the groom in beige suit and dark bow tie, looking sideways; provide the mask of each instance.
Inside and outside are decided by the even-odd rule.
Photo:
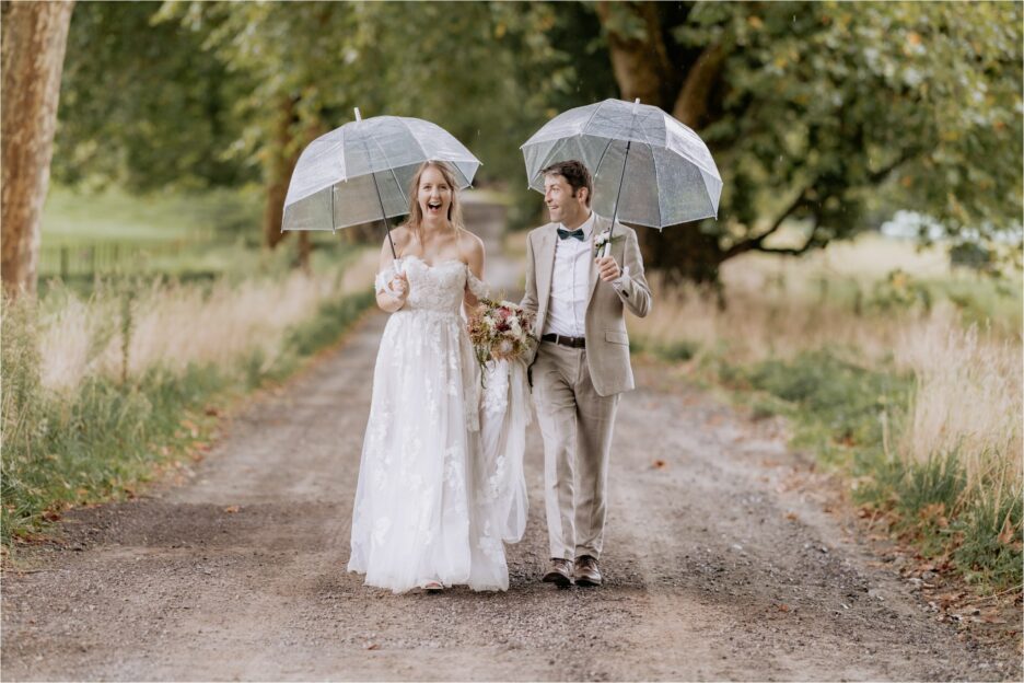
[[[563,161],[542,173],[551,222],[526,240],[522,305],[540,339],[531,371],[551,546],[544,580],[601,586],[612,428],[619,395],[633,389],[625,310],[647,315],[651,290],[632,229],[616,223],[610,253],[597,255],[612,221],[591,211],[586,166]]]

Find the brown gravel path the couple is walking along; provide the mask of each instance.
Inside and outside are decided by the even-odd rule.
[[[8,571],[3,678],[1020,679],[872,566],[770,424],[658,368],[619,413],[604,588],[537,580],[535,431],[507,593],[363,587],[345,564],[383,323],[235,417],[190,483],[79,510]]]

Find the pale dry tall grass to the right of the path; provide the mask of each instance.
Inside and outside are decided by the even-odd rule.
[[[899,455],[927,462],[956,451],[968,478],[966,496],[992,487],[1003,495],[1020,491],[1019,319],[968,324],[949,300],[873,306],[872,287],[896,267],[906,280],[955,277],[933,254],[909,250],[875,238],[805,261],[736,258],[723,267],[725,310],[713,297],[655,277],[652,313],[630,319],[630,334],[644,348],[687,344],[698,358],[717,354],[731,363],[829,347],[869,367],[909,371],[916,389],[907,406],[909,425],[896,444]],[[896,289],[908,287],[904,279],[896,278]],[[971,281],[968,276],[965,287]]]

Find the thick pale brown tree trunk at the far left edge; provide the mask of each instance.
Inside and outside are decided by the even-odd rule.
[[[43,202],[49,186],[60,73],[73,2],[3,2],[0,106],[3,289],[35,293]]]

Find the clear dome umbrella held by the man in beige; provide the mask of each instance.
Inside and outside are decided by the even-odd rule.
[[[718,216],[722,178],[708,146],[656,106],[621,100],[563,112],[522,146],[530,186],[542,170],[575,159],[594,177],[602,216],[662,229]]]

